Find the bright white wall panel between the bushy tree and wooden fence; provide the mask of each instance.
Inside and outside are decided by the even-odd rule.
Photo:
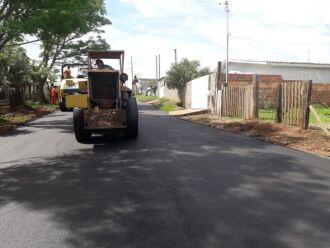
[[[191,108],[207,109],[209,75],[191,81]]]

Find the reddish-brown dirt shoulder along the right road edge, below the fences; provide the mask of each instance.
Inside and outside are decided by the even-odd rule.
[[[224,130],[230,130],[269,143],[287,146],[304,152],[330,157],[330,137],[318,129],[300,130],[298,127],[260,121],[233,121],[221,119],[214,114],[200,114],[180,117]]]

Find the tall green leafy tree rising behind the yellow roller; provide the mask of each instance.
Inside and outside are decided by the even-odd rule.
[[[52,1],[45,9],[39,9],[38,15],[32,18],[29,27],[31,34],[40,39],[41,61],[34,77],[42,89],[47,82],[48,73],[52,71],[58,60],[70,57],[81,58],[86,55],[91,45],[108,49],[109,45],[98,34],[103,25],[111,24],[105,17],[106,11],[103,0],[57,0]],[[87,33],[97,34],[97,39],[82,39]],[[42,90],[40,101],[45,102]]]

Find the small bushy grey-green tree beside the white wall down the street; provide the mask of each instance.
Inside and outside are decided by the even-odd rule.
[[[181,105],[185,105],[186,85],[191,80],[210,73],[209,68],[200,68],[197,60],[184,58],[180,63],[172,64],[166,72],[165,82],[170,89],[177,89]]]

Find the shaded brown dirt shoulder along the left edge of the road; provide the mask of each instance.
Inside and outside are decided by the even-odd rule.
[[[31,107],[23,105],[15,107],[11,109],[10,113],[0,114],[0,135],[54,111],[55,108],[46,106]]]

